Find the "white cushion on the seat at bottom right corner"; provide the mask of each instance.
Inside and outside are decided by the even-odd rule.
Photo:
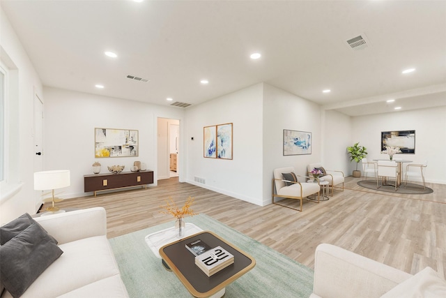
[[[385,293],[381,298],[446,297],[446,281],[431,267],[426,267]]]

